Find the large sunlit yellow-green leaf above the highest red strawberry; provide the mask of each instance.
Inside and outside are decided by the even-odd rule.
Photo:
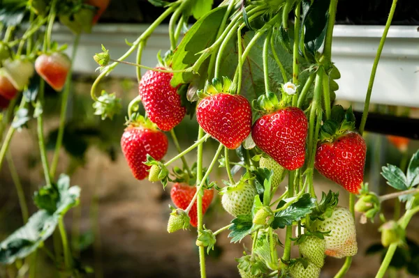
[[[175,54],[173,54],[172,59],[173,70],[184,70],[185,68],[189,68],[198,60],[199,54],[197,55],[197,53],[210,47],[212,43],[214,43],[216,33],[223,20],[224,14],[226,13],[226,9],[226,6],[214,8],[214,10],[203,17],[200,17],[200,19],[193,24],[175,49]],[[212,36],[209,36],[209,34]],[[200,76],[200,78],[205,80],[206,75]],[[191,82],[192,79],[193,72],[179,72],[173,74],[170,84],[173,87],[177,87],[179,84]]]

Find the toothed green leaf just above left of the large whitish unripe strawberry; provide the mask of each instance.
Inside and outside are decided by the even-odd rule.
[[[282,200],[284,201],[284,200]],[[281,206],[285,205],[284,202],[280,202]],[[303,194],[298,201],[293,203],[291,206],[285,210],[280,210],[278,213],[275,213],[274,222],[272,222],[273,229],[284,229],[285,226],[293,224],[293,222],[302,219],[309,213],[311,213],[312,208],[316,206],[316,199],[311,198],[309,193]]]

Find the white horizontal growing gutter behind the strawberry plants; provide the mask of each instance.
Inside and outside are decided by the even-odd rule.
[[[54,40],[61,43],[72,41],[71,33],[62,26],[56,26]],[[383,105],[419,107],[419,32],[416,26],[391,26],[374,83],[372,102]],[[99,24],[91,34],[84,34],[80,40],[75,72],[97,75],[97,64],[92,59],[101,52],[101,43],[110,49],[112,58],[122,56],[129,48],[125,40],[133,42],[147,29],[147,25]],[[384,26],[336,25],[333,33],[332,60],[341,72],[337,80],[339,100],[363,102],[369,82],[369,75]],[[71,43],[68,43],[68,54]],[[162,54],[170,47],[168,26],[159,26],[147,41],[142,55],[142,64],[154,66],[156,53]],[[126,61],[135,62],[135,53]],[[119,65],[112,76],[135,77],[135,70],[129,65]]]

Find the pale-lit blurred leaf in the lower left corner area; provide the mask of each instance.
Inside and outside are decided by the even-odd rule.
[[[59,219],[78,205],[80,187],[70,187],[70,178],[61,174],[57,185],[42,187],[34,201],[40,208],[27,224],[0,243],[0,263],[10,264],[34,252],[52,235]]]

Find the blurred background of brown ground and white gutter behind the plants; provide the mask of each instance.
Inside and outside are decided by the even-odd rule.
[[[219,1],[218,1],[219,3]],[[217,4],[215,1],[214,5]],[[337,24],[334,38],[333,60],[341,72],[337,80],[339,90],[337,104],[345,108],[353,105],[355,111],[362,111],[363,99],[367,89],[369,72],[374,60],[376,47],[390,9],[391,1],[339,1]],[[89,96],[91,83],[97,75],[96,64],[91,57],[100,52],[100,45],[110,48],[110,54],[119,56],[127,46],[125,38],[133,41],[147,25],[160,15],[163,9],[155,8],[147,1],[111,1],[101,22],[91,34],[82,35],[71,98],[69,102],[64,148],[61,151],[58,173],[71,175],[71,184],[80,185],[82,194],[80,206],[66,215],[66,228],[71,238],[74,252],[80,254],[82,265],[94,268],[89,277],[198,277],[198,249],[195,245],[196,231],[168,234],[166,224],[169,216],[170,185],[163,190],[159,183],[138,181],[133,178],[121,153],[119,140],[124,130],[124,113],[115,116],[113,121],[101,121],[94,116]],[[192,23],[192,22],[191,22]],[[383,56],[378,66],[374,85],[372,120],[366,134],[368,153],[365,181],[370,189],[385,194],[390,187],[380,175],[386,163],[405,167],[411,155],[418,150],[419,141],[408,141],[408,148],[397,148],[390,143],[385,133],[413,136],[418,129],[409,130],[407,118],[419,121],[419,4],[418,1],[399,0],[395,14],[394,28],[389,32]],[[68,43],[71,52],[73,35],[54,26],[54,40],[60,44]],[[162,25],[147,43],[143,63],[154,66],[156,53],[169,47],[167,25]],[[115,91],[122,98],[122,111],[128,102],[138,95],[135,68],[119,65],[100,84],[108,92]],[[45,132],[50,159],[59,125],[60,95],[46,91]],[[413,108],[411,108],[413,107]],[[374,118],[375,115],[375,118]],[[385,116],[391,118],[386,122]],[[360,117],[358,117],[358,121]],[[418,124],[413,125],[417,128]],[[185,118],[176,128],[182,148],[196,140],[198,125],[195,119]],[[390,132],[389,132],[390,131]],[[392,131],[392,132],[391,132]],[[377,133],[378,132],[378,133]],[[381,134],[380,134],[381,133]],[[418,137],[416,137],[418,139]],[[166,159],[175,155],[170,141]],[[217,144],[209,140],[205,144],[205,164],[209,164]],[[22,216],[13,178],[20,177],[24,196],[29,204],[29,212],[36,211],[31,203],[32,194],[43,185],[43,174],[38,153],[36,125],[15,135],[10,152],[15,168],[5,163],[0,171],[0,240],[22,226]],[[187,160],[194,161],[191,152]],[[234,160],[236,157],[230,157]],[[177,164],[180,166],[180,164]],[[223,169],[215,169],[212,180],[221,183],[228,179]],[[287,180],[279,194],[284,192]],[[348,194],[339,185],[315,176],[316,193],[328,190],[340,192],[341,206],[347,206]],[[383,213],[392,218],[394,201],[387,201]],[[216,196],[212,206],[205,214],[207,228],[216,230],[225,226],[232,217],[223,211],[220,198]],[[357,215],[358,255],[353,258],[353,267],[346,277],[374,277],[378,270],[382,247],[376,223],[360,224]],[[399,248],[392,262],[390,277],[413,277],[409,272],[419,275],[419,218],[409,224],[407,236],[409,244]],[[283,241],[283,231],[278,231]],[[244,246],[249,242],[230,244],[228,231],[217,237],[216,247],[207,257],[208,277],[238,277],[234,258],[242,256]],[[54,249],[52,240],[45,245]],[[59,248],[59,247],[55,247]],[[280,250],[281,252],[281,250]],[[293,250],[297,256],[297,249]],[[49,258],[38,252],[37,277],[57,277],[57,272]],[[416,260],[416,261],[414,261]],[[321,277],[333,277],[344,260],[327,258]],[[416,269],[415,269],[416,265]],[[8,277],[8,269],[0,266],[0,277]]]

